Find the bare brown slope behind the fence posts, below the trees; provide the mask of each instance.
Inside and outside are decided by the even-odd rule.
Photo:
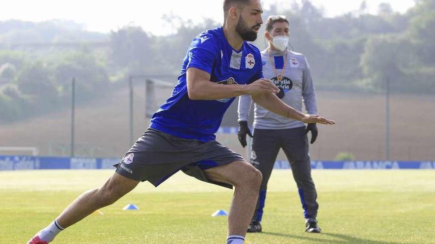
[[[147,80],[155,83],[147,85]],[[129,83],[118,82],[94,94],[90,101],[77,101],[75,156],[122,157],[131,147],[131,137],[141,136],[152,112],[169,98],[176,76],[136,75],[131,79],[131,90]],[[337,124],[318,126],[318,139],[310,145],[313,160],[334,160],[339,153],[349,153],[355,160],[387,160],[385,95],[318,91],[317,100],[319,114],[335,119]],[[434,104],[435,96],[391,95],[390,160],[435,159]],[[251,112],[251,122],[252,118]],[[1,123],[0,146],[36,147],[40,155],[70,156],[71,126],[70,107]],[[237,126],[237,99],[221,126]],[[219,134],[217,140],[245,155],[237,135]],[[284,154],[280,152],[277,159],[284,160]]]

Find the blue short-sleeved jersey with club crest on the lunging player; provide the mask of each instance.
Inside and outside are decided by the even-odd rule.
[[[263,78],[260,50],[246,41],[239,51],[234,50],[222,27],[201,33],[187,51],[172,96],[151,118],[150,126],[164,133],[184,139],[214,140],[223,114],[235,98],[190,100],[186,71],[191,67],[210,73],[211,82],[249,84]]]

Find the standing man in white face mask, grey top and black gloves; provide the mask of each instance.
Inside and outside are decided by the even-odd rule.
[[[311,79],[310,67],[303,54],[287,48],[289,44],[289,21],[285,16],[270,16],[266,21],[265,38],[268,48],[261,52],[264,77],[271,79],[279,88],[277,97],[287,105],[302,111],[302,101],[308,114],[317,113],[316,95]],[[317,127],[300,120],[288,119],[272,113],[263,104],[255,103],[254,138],[252,140],[251,163],[260,170],[261,181],[259,199],[248,232],[261,232],[261,218],[266,200],[267,182],[280,148],[284,150],[292,168],[304,209],[305,231],[319,233],[317,225],[317,194],[311,178],[311,163],[308,154],[306,134],[311,131],[311,143],[316,140]],[[248,115],[251,107],[250,96],[239,98],[239,132],[242,146],[246,146],[246,135],[252,137],[248,128]]]

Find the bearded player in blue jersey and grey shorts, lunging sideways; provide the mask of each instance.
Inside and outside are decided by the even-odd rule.
[[[262,77],[260,51],[246,42],[257,38],[262,24],[260,1],[224,0],[223,9],[223,26],[193,39],[172,96],[152,116],[150,127],[116,172],[102,187],[79,196],[28,244],[52,242],[59,232],[113,204],[139,182],[158,186],[180,170],[206,182],[234,186],[226,243],[244,243],[261,173],[214,135],[234,97],[252,95],[264,107],[304,123],[335,122],[285,105],[274,95],[279,89]]]

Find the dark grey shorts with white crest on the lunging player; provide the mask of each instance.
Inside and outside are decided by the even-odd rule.
[[[181,170],[199,180],[232,189],[227,183],[208,180],[204,170],[234,161],[245,159],[216,140],[182,139],[148,128],[114,167],[118,174],[138,181],[148,180],[154,186]]]

